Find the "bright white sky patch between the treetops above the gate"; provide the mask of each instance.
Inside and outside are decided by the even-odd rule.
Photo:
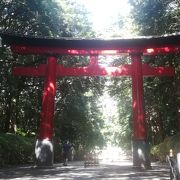
[[[102,31],[118,20],[118,15],[127,16],[130,12],[128,0],[79,0],[90,12],[90,20],[96,31]]]

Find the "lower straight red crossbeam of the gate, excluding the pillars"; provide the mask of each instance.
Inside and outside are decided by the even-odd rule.
[[[46,65],[40,64],[37,67],[14,67],[13,75],[21,76],[45,76]],[[172,67],[151,67],[148,64],[142,65],[143,76],[174,76]],[[56,65],[56,76],[131,76],[132,65],[126,64],[118,67],[102,67],[90,64],[86,67],[64,67]]]

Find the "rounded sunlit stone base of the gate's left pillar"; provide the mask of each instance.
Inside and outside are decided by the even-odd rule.
[[[54,161],[53,143],[50,140],[37,140],[35,147],[36,164],[38,167],[51,167]]]

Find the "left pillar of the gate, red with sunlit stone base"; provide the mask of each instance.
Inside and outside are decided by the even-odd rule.
[[[53,150],[53,119],[54,98],[56,95],[56,63],[55,57],[49,57],[46,68],[46,82],[44,86],[39,137],[36,142],[35,154],[38,166],[52,166]]]

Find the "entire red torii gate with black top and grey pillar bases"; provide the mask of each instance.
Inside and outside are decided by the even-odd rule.
[[[63,76],[131,76],[133,107],[133,166],[150,167],[145,128],[143,76],[174,76],[171,67],[150,67],[142,64],[143,54],[176,53],[180,35],[140,37],[134,39],[53,39],[1,34],[2,41],[17,54],[46,54],[47,64],[38,67],[15,67],[14,75],[43,76],[46,79],[42,101],[39,138],[36,158],[39,166],[53,165],[53,117],[56,95],[56,77]],[[100,67],[98,55],[129,54],[132,64],[120,67]],[[56,55],[90,56],[86,67],[70,67],[57,64]]]

